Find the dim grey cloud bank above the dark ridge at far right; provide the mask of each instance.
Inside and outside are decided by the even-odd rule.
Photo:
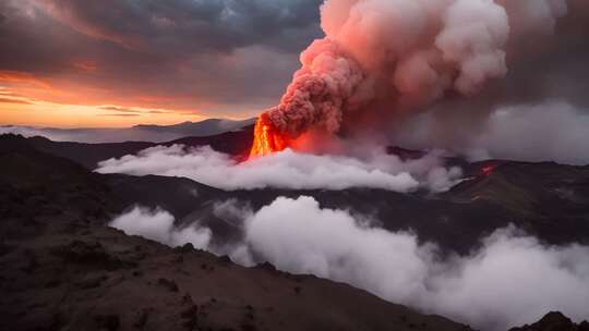
[[[404,146],[454,149],[472,160],[589,164],[589,112],[565,102],[501,107],[477,124],[426,113],[399,126],[396,135]]]

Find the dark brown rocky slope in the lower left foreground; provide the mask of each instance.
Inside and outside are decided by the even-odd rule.
[[[468,330],[348,285],[125,236],[100,225],[121,211],[108,181],[125,177],[0,138],[0,330]]]

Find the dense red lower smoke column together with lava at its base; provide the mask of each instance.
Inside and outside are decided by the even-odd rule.
[[[336,133],[345,111],[372,98],[372,88],[362,88],[369,82],[360,65],[329,38],[315,40],[301,63],[280,105],[260,117],[251,158],[280,151],[311,128]]]

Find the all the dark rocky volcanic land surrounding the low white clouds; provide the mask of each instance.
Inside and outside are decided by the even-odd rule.
[[[183,142],[239,149],[230,139],[200,139]],[[199,214],[225,241],[237,235],[237,226],[217,219],[212,203],[233,198],[255,209],[278,195],[301,194],[359,212],[377,206],[382,226],[417,229],[422,240],[448,250],[468,250],[479,236],[508,222],[549,243],[589,238],[587,167],[465,164],[470,180],[435,196],[375,189],[224,192],[187,179],[91,172],[93,159],[83,158],[97,159],[95,147],[107,150],[101,159],[112,154],[104,145],[0,137],[0,330],[470,329],[349,285],[286,274],[269,265],[248,269],[191,245],[170,248],[106,226],[134,204],[159,206],[178,222]],[[77,155],[77,148],[91,150]],[[516,330],[585,331],[587,323],[551,314]]]

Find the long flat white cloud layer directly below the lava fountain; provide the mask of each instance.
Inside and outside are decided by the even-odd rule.
[[[426,187],[441,192],[456,184],[461,175],[458,168],[443,168],[442,160],[434,154],[420,160],[402,162],[396,156],[383,152],[374,152],[363,160],[299,154],[287,149],[240,163],[211,147],[189,149],[180,145],[158,146],[136,156],[106,160],[99,163],[96,171],[184,176],[228,191],[372,187],[411,192]]]

